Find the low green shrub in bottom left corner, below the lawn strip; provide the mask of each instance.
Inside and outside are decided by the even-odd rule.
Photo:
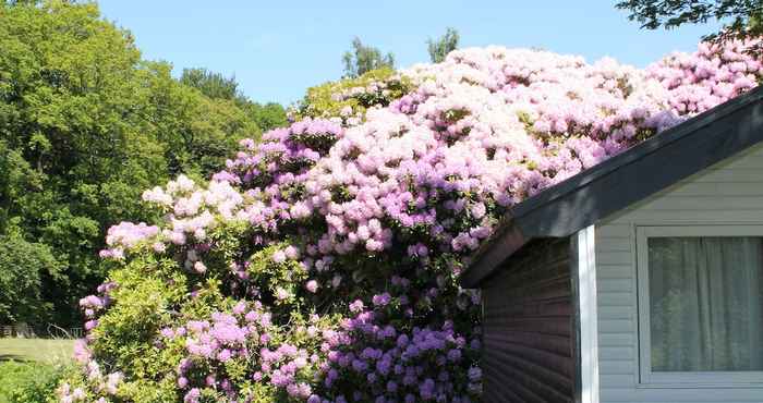
[[[52,364],[0,362],[0,402],[56,402],[56,388],[65,370]]]

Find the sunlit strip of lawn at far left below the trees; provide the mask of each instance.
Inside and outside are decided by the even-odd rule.
[[[61,363],[72,359],[74,340],[0,338],[0,362]]]

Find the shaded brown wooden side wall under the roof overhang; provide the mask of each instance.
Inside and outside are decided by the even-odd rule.
[[[484,402],[572,402],[569,239],[525,245],[483,282]]]

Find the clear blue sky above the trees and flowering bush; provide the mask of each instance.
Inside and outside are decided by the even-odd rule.
[[[714,28],[642,30],[615,2],[99,1],[108,20],[132,30],[145,58],[172,63],[175,75],[195,66],[234,74],[252,99],[286,105],[310,86],[339,78],[341,56],[355,35],[393,52],[398,66],[428,61],[426,39],[448,26],[459,30],[462,47],[540,47],[644,66],[673,50],[694,49]]]

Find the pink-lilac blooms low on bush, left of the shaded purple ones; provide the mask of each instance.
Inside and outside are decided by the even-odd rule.
[[[253,368],[250,381],[268,382],[303,401],[313,395],[310,382],[320,357],[293,344],[276,345],[271,333],[278,329],[258,301],[241,301],[230,314],[214,313],[210,319],[190,320],[160,331],[166,343],[180,341],[187,351],[177,369],[178,388],[184,391],[185,402],[198,402],[204,388],[221,391],[231,401],[241,399],[239,387],[227,373],[229,362]],[[304,331],[318,333],[315,326]]]

